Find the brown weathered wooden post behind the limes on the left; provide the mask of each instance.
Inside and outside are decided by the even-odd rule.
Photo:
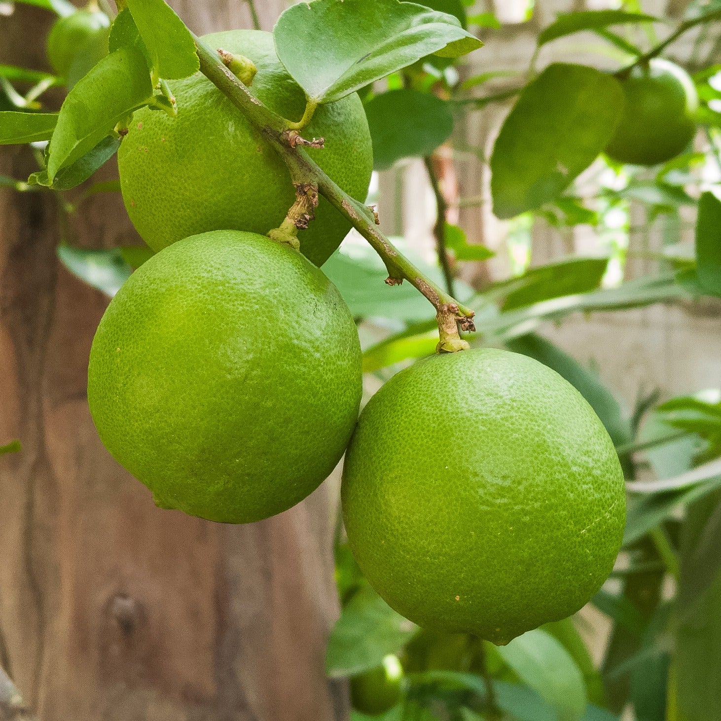
[[[281,5],[257,4],[267,29]],[[240,0],[174,6],[195,32],[249,27]],[[23,4],[0,17],[0,63],[44,68],[50,19]],[[34,169],[27,148],[0,152],[0,174]],[[323,673],[335,487],[250,526],[155,508],[92,425],[107,298],[58,265],[68,233],[137,237],[118,195],[61,231],[51,193],[0,190],[0,443],[23,444],[0,457],[0,666],[42,721],[344,721],[345,687]]]

